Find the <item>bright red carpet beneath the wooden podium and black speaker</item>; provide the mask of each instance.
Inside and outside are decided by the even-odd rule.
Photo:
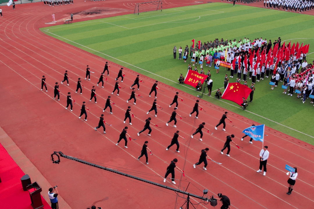
[[[23,191],[21,177],[25,175],[14,162],[8,152],[0,144],[0,208],[32,209],[28,191]],[[35,179],[31,179],[32,183]],[[44,192],[44,191],[42,191]],[[41,192],[41,193],[42,193]],[[48,191],[47,191],[48,192]],[[41,196],[45,209],[51,209],[50,205]],[[50,200],[48,200],[50,203]]]

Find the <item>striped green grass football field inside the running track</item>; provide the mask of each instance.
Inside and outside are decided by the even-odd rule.
[[[177,81],[180,73],[186,75],[189,62],[174,60],[172,52],[175,45],[177,49],[190,46],[192,39],[204,43],[215,38],[239,40],[246,37],[253,40],[263,37],[274,41],[281,37],[282,43],[284,40],[309,43],[308,63],[314,58],[314,54],[311,54],[314,38],[309,38],[314,34],[313,16],[241,5],[232,7],[232,4],[225,3],[129,14],[41,30],[192,95],[200,93],[191,86],[179,85]],[[205,65],[204,70],[208,70]],[[216,74],[213,67],[210,70],[213,90],[223,87],[223,77],[227,71],[221,68]],[[236,77],[230,79],[230,82],[235,81]],[[248,82],[250,84],[251,80]],[[310,128],[314,107],[310,101],[306,100],[303,104],[296,96],[282,94],[281,83],[271,91],[268,83],[266,79],[257,82],[253,102],[246,108],[247,111],[230,101],[208,96],[203,99],[314,144],[314,129]]]

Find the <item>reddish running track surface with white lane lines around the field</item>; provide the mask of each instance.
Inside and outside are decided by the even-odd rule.
[[[166,126],[165,123],[169,120],[174,107],[169,108],[169,104],[177,89],[160,83],[158,86],[165,92],[158,90],[157,104],[164,109],[158,110],[157,118],[152,112],[147,115],[146,112],[154,100],[154,97],[148,97],[148,93],[155,80],[141,75],[145,83],[140,83],[140,90],[136,93],[143,98],[137,97],[136,105],[133,105],[133,102],[126,103],[131,93],[129,87],[138,73],[125,69],[124,82],[120,82],[125,89],[120,89],[120,96],[111,95],[115,77],[122,66],[109,62],[112,68],[109,68],[110,76],[105,76],[108,79],[105,88],[96,86],[107,60],[48,37],[38,29],[45,26],[43,23],[51,20],[52,12],[68,14],[99,4],[104,7],[122,8],[125,3],[134,4],[132,1],[83,2],[80,0],[73,5],[59,7],[31,3],[17,5],[17,9],[13,11],[3,8],[4,17],[0,22],[2,69],[0,102],[3,111],[0,125],[45,178],[52,185],[58,185],[58,191],[67,203],[73,209],[87,208],[93,202],[108,196],[109,200],[100,201],[97,206],[156,208],[157,203],[160,208],[171,208],[175,203],[178,207],[181,206],[184,199],[176,196],[174,192],[161,190],[156,186],[113,175],[67,159],[61,159],[60,165],[54,165],[49,159],[53,151],[62,151],[70,156],[97,162],[182,190],[185,190],[191,182],[187,191],[200,196],[203,195],[202,190],[205,188],[208,189],[208,195],[223,193],[230,198],[232,208],[310,208],[314,202],[312,145],[267,127],[265,134],[268,136],[265,137],[265,145],[268,145],[270,157],[267,175],[263,176],[256,172],[262,144],[260,142],[249,144],[248,138],[241,141],[242,130],[253,123],[255,125],[259,123],[230,112],[229,118],[233,123],[227,123],[226,132],[221,130],[222,126],[214,130],[222,114],[228,110],[201,100],[200,105],[205,107],[206,113],[200,111],[198,119],[190,118],[189,112],[192,111],[197,97],[179,91],[179,96],[183,97],[184,101],[179,101],[177,112],[186,118],[178,119],[178,128],[172,127],[173,122],[170,126]],[[182,6],[182,1],[171,3],[168,3],[169,8],[170,5]],[[189,5],[188,1],[183,3]],[[68,55],[66,60],[64,54]],[[91,74],[91,81],[84,80],[86,65],[95,71],[95,74]],[[69,76],[73,77],[70,79],[70,86],[60,83],[65,70],[68,70]],[[40,91],[43,75],[46,76],[48,92]],[[82,95],[74,93],[78,77],[83,78]],[[56,81],[59,82],[62,93],[59,102],[53,100],[53,87]],[[93,85],[96,86],[97,104],[89,102],[89,93]],[[73,107],[73,112],[64,108],[68,91],[72,93],[72,98],[77,103]],[[98,124],[109,95],[116,105],[112,105],[112,115],[108,110],[104,114],[105,121],[112,126],[106,125],[106,134],[102,133],[102,129],[95,132],[94,127]],[[83,101],[87,103],[86,106],[90,110],[87,122],[83,118],[78,119]],[[137,118],[132,118],[133,125],[123,123],[124,113],[129,105],[132,107],[132,112],[137,115]],[[152,127],[151,137],[146,135],[147,131],[138,137],[136,133],[143,129],[144,120],[148,117],[152,118],[152,123],[158,124],[161,128]],[[203,141],[198,140],[199,135],[191,139],[189,136],[202,122],[205,122],[205,127],[210,129],[209,134],[204,131]],[[129,127],[128,133],[133,138],[137,138],[136,141],[128,141],[128,149],[124,148],[123,141],[115,146],[122,128],[126,125]],[[180,153],[175,151],[175,147],[165,150],[176,130],[186,138],[186,140],[179,139]],[[224,145],[225,137],[230,134],[235,134],[234,141],[244,149],[239,150],[231,146],[230,157],[227,157],[220,154],[220,149]],[[149,165],[145,164],[143,158],[137,160],[146,140],[149,141],[148,147],[154,153],[153,156],[149,155]],[[194,169],[192,165],[198,161],[200,150],[206,147],[210,148],[208,155],[222,165],[209,161],[207,171],[202,169],[203,165]],[[163,183],[161,176],[174,158],[178,159],[177,166],[185,171],[186,177],[176,170],[176,179],[180,179],[176,180],[177,184],[172,185],[169,179]],[[288,189],[285,164],[298,167],[299,173],[295,189],[290,196],[286,195]],[[192,199],[192,203],[196,202],[198,200]],[[211,207],[204,206],[204,208]]]

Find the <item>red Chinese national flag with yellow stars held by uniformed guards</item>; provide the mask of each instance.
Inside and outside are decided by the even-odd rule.
[[[228,83],[221,98],[236,102],[238,105],[241,106],[241,104],[243,103],[242,97],[247,99],[251,91],[252,90],[249,87],[240,83]]]

